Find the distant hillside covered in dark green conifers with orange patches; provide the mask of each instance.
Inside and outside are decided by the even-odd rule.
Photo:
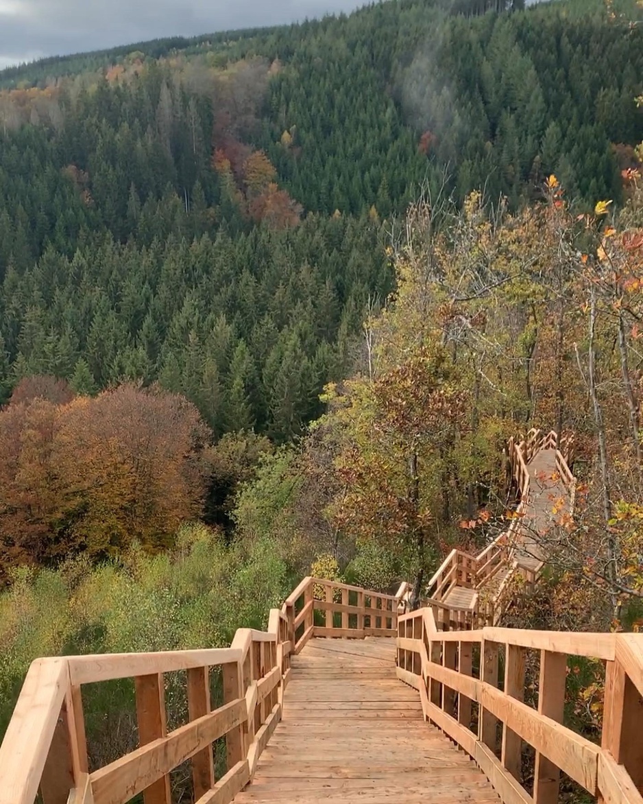
[[[29,374],[158,379],[215,433],[287,440],[391,288],[383,221],[423,183],[519,207],[555,172],[581,202],[621,199],[634,4],[486,6],[383,2],[0,73],[2,396]]]

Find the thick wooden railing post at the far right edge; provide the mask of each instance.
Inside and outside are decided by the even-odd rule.
[[[624,765],[640,793],[643,793],[643,742],[641,718],[643,697],[616,659],[607,662],[601,746]]]

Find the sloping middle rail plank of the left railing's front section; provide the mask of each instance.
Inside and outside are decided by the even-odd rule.
[[[141,790],[145,796],[153,791],[159,797],[154,800],[161,801],[170,770],[227,734],[245,717],[244,699],[232,701],[97,770],[91,776],[94,804],[125,804]],[[169,786],[167,792],[169,795]]]

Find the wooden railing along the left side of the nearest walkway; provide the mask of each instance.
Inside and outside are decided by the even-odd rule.
[[[125,804],[141,792],[145,804],[171,804],[170,772],[188,759],[194,801],[227,804],[281,719],[291,654],[313,634],[395,637],[397,608],[395,596],[305,578],[266,632],[240,629],[229,648],[37,659],[0,747],[0,804],[33,804],[39,791],[44,804]],[[213,669],[223,685],[214,711]],[[174,671],[186,671],[189,722],[168,732],[163,676]],[[134,679],[139,747],[90,771],[82,688],[114,679]],[[212,744],[223,737],[227,770],[215,780]]]

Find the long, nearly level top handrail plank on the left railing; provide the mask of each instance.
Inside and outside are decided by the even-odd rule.
[[[252,632],[251,632],[252,633]],[[257,632],[259,633],[259,632]],[[264,634],[270,638],[268,634]],[[79,684],[130,679],[136,676],[189,670],[190,667],[215,667],[236,662],[242,657],[235,648],[212,650],[168,650],[142,654],[100,654],[70,656],[69,675],[73,686]]]

